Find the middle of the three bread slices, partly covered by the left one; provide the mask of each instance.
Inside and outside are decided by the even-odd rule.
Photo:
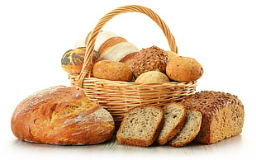
[[[166,144],[183,128],[187,110],[178,102],[164,106],[164,126],[157,139],[160,145]]]

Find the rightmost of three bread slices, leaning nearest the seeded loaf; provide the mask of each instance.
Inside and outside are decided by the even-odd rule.
[[[187,120],[183,129],[170,140],[169,144],[173,147],[181,147],[190,143],[196,138],[201,127],[201,112],[187,111]]]

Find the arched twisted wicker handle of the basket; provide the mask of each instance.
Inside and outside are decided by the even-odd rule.
[[[139,5],[128,5],[123,7],[117,7],[116,9],[112,10],[111,12],[107,13],[105,16],[103,16],[100,21],[98,21],[97,25],[92,30],[86,46],[86,53],[84,56],[83,61],[83,68],[81,70],[81,73],[78,78],[78,86],[83,87],[83,79],[84,78],[90,78],[92,75],[92,51],[94,49],[95,41],[97,39],[97,35],[100,31],[102,31],[102,27],[107,24],[107,21],[110,21],[114,16],[117,16],[121,13],[126,12],[140,12],[144,13],[145,15],[149,16],[153,21],[156,22],[156,24],[162,29],[164,32],[165,37],[168,40],[168,45],[170,49],[178,53],[178,47],[175,43],[175,39],[173,34],[169,31],[168,26],[164,23],[164,21],[157,15],[155,12],[153,12],[148,7],[142,7]]]

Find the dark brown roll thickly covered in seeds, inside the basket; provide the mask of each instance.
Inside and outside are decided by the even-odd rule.
[[[132,70],[135,78],[148,71],[165,73],[167,63],[168,56],[166,52],[157,46],[152,46],[147,49],[141,49],[138,54],[135,54]]]

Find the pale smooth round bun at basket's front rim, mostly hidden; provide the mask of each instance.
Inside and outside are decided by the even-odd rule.
[[[170,82],[169,78],[159,71],[149,71],[140,74],[135,82],[147,83],[147,82]]]

